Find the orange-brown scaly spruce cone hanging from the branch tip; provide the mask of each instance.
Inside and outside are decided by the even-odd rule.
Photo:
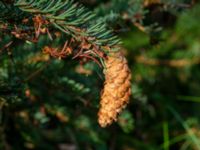
[[[101,94],[98,122],[101,127],[117,120],[131,94],[131,73],[121,52],[111,52],[105,60],[105,83]]]

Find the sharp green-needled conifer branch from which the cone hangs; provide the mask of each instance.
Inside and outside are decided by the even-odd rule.
[[[24,12],[41,15],[79,44],[84,41],[91,45],[90,49],[105,50],[105,46],[113,48],[120,43],[102,20],[73,0],[18,0],[15,6]]]

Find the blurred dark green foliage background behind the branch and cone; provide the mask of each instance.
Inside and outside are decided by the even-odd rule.
[[[102,69],[37,44],[0,50],[0,149],[200,150],[200,4],[195,0],[80,0],[122,39],[130,104],[100,128]],[[2,36],[3,47],[10,36]],[[66,37],[53,41],[60,45]]]

